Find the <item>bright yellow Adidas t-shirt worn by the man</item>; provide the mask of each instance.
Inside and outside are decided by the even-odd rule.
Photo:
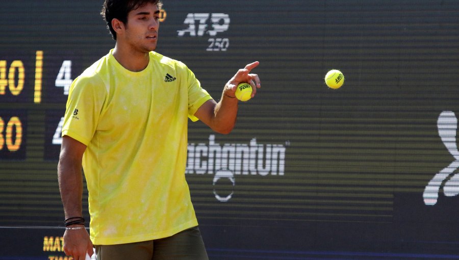
[[[70,87],[62,136],[87,145],[95,245],[165,238],[197,225],[185,180],[188,117],[209,93],[183,63],[151,51],[140,72],[112,54]]]

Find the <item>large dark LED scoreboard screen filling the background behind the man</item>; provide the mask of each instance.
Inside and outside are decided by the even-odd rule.
[[[4,2],[0,260],[70,260],[65,105],[115,41],[102,0]],[[459,259],[459,2],[163,2],[158,53],[214,99],[260,62],[231,134],[188,122],[184,174],[211,259]],[[331,69],[346,76],[336,90]]]

